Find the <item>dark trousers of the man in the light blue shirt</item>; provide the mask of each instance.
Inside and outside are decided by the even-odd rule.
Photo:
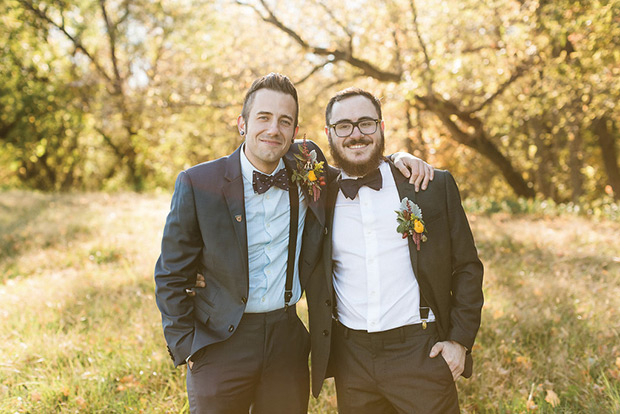
[[[192,414],[306,414],[308,331],[295,307],[245,314],[226,341],[192,357]]]

